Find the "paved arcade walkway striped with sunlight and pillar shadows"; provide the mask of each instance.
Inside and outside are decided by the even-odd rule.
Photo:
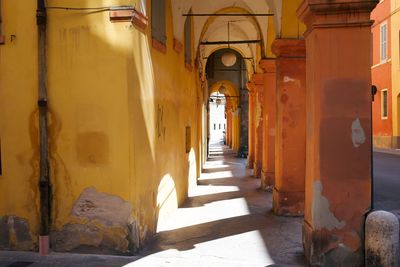
[[[259,190],[244,166],[231,150],[212,145],[199,185],[139,257],[24,254],[23,261],[36,263],[11,266],[306,266],[303,219],[274,216],[271,193]],[[17,259],[0,252],[0,267]]]

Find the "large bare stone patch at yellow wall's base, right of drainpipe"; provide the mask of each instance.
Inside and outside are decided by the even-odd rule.
[[[52,231],[54,251],[132,255],[140,246],[132,207],[119,196],[85,189],[71,211],[71,222]]]

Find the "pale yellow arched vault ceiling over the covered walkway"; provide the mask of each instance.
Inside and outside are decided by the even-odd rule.
[[[187,14],[191,10],[194,14],[215,14],[215,13],[272,13],[274,14],[274,31],[280,33],[282,0],[171,0],[173,15],[173,30],[175,39],[182,42],[184,24]],[[268,38],[268,17],[266,16],[195,16],[193,17],[194,45],[202,58],[207,58],[218,48],[227,45],[199,45],[200,42],[227,41],[228,22],[229,40],[261,40],[261,56],[265,53],[265,44]],[[234,44],[233,49],[240,51],[246,58],[257,56],[258,44]],[[200,51],[197,49],[200,48]],[[205,62],[203,62],[203,66]]]

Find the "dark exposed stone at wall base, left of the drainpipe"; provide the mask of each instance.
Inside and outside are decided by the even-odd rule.
[[[34,250],[35,244],[26,219],[16,216],[0,217],[0,250]]]

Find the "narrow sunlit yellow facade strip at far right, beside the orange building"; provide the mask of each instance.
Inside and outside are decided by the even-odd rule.
[[[393,135],[400,136],[400,0],[391,1]]]

